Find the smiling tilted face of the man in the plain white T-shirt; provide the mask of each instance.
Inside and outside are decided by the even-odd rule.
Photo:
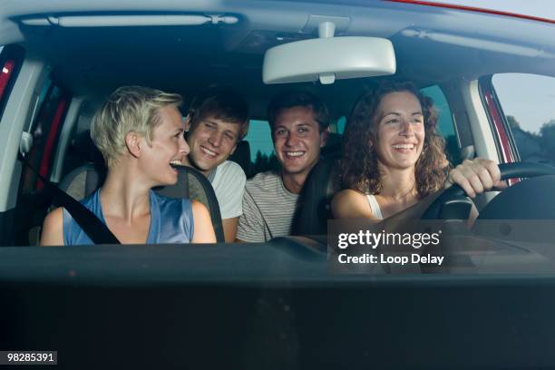
[[[235,151],[240,130],[239,123],[224,122],[213,117],[195,123],[187,135],[190,163],[208,175]]]

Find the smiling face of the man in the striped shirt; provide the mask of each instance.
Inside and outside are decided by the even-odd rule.
[[[272,131],[274,148],[284,174],[307,175],[326,143],[314,111],[309,107],[285,108],[279,112]]]

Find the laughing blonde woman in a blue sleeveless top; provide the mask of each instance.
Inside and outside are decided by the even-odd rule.
[[[91,136],[108,173],[82,201],[122,244],[215,242],[208,210],[199,201],[170,199],[153,187],[175,184],[189,153],[178,94],[140,86],[117,89],[93,117]],[[69,212],[44,219],[41,245],[93,244]]]

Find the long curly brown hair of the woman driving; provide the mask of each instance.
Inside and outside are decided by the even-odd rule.
[[[424,112],[424,147],[414,170],[416,190],[422,199],[442,189],[449,171],[449,162],[445,157],[445,141],[435,133],[438,114],[433,107],[433,100],[420,93],[414,83],[406,81],[387,80],[380,83],[374,90],[364,93],[355,103],[347,120],[343,140],[343,186],[365,194],[382,192],[375,145],[369,145],[369,142],[377,142],[376,112],[379,103],[388,93],[397,92],[414,94]]]

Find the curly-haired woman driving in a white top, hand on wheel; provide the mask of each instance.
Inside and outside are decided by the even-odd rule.
[[[432,99],[413,83],[386,81],[363,94],[346,125],[346,190],[332,201],[334,216],[386,219],[453,183],[471,198],[502,186],[493,161],[464,161],[450,171],[437,119]]]

